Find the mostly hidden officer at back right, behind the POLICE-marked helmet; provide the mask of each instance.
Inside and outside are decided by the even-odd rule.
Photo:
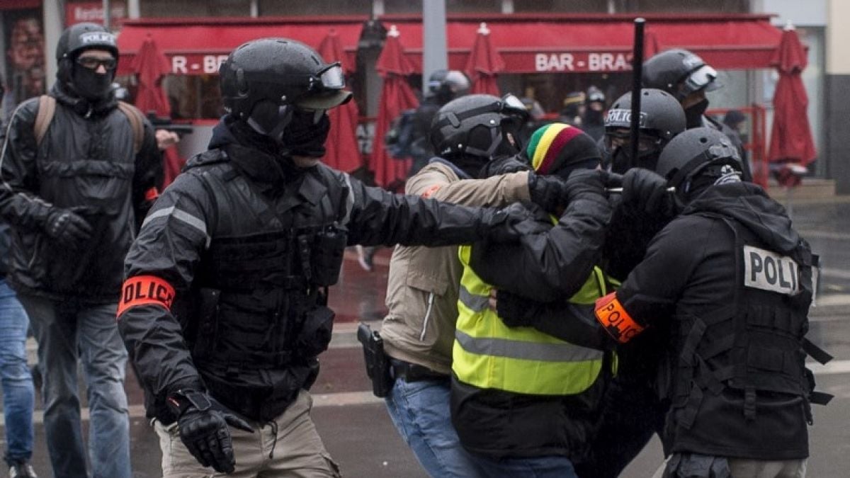
[[[643,62],[644,88],[659,88],[678,100],[688,119],[688,128],[714,128],[726,134],[743,156],[740,136],[722,122],[706,116],[706,93],[723,87],[717,79],[717,70],[707,65],[699,56],[683,48],[673,48],[655,54]],[[744,179],[750,180],[750,165],[742,162]]]

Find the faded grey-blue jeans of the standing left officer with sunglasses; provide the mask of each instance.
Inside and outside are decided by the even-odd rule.
[[[124,376],[127,349],[117,304],[80,304],[19,294],[38,340],[44,378],[44,430],[56,478],[87,478],[77,360],[88,385],[88,454],[94,478],[130,478],[130,426]]]

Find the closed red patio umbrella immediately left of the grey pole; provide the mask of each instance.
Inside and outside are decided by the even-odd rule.
[[[371,170],[375,173],[375,183],[388,189],[400,189],[411,168],[411,160],[399,160],[389,156],[383,145],[390,122],[401,111],[416,108],[419,100],[413,89],[407,84],[407,76],[415,72],[413,65],[404,53],[399,42],[399,31],[391,26],[381,56],[377,59],[376,69],[383,78],[381,100],[378,106],[375,124],[375,140],[372,141]]]

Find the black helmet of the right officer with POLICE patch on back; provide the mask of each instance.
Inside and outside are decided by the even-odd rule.
[[[673,138],[658,158],[655,172],[688,202],[706,185],[739,181],[744,171],[740,152],[727,135],[714,128],[692,128]]]

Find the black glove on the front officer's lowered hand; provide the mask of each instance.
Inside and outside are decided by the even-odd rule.
[[[178,390],[168,396],[167,404],[178,416],[180,440],[198,463],[212,466],[218,473],[232,473],[236,461],[227,425],[253,432],[251,425],[214,408],[207,394],[197,390]]]

